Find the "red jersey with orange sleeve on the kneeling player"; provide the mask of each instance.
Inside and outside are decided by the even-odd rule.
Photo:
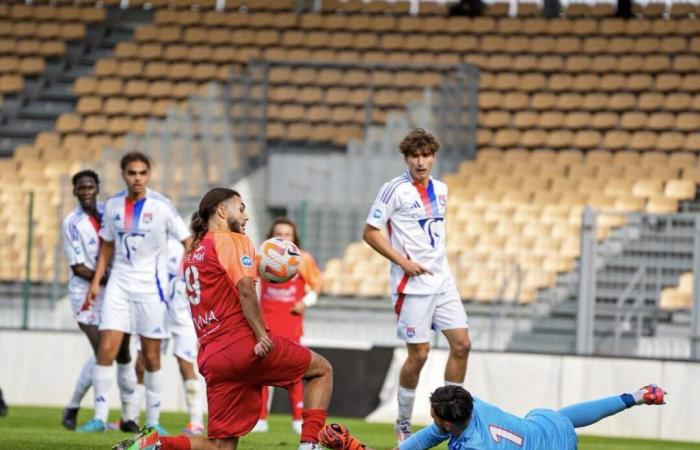
[[[184,256],[183,268],[201,362],[222,347],[253,335],[236,289],[245,277],[257,279],[255,248],[248,236],[210,231]]]

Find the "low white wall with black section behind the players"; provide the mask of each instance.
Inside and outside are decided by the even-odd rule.
[[[405,357],[403,349],[323,348],[335,373],[331,413],[368,415],[374,422],[396,417],[396,382]],[[64,406],[78,373],[89,356],[78,332],[0,330],[0,388],[10,404]],[[442,384],[447,351],[433,350],[421,376],[414,410],[415,423],[430,420],[428,396]],[[184,392],[175,358],[163,359],[163,409],[185,411]],[[658,383],[669,392],[668,404],[638,407],[585,428],[585,434],[650,439],[700,441],[700,364],[651,359],[621,359],[472,352],[466,387],[476,396],[506,411],[524,415],[535,408],[562,406],[629,392]],[[282,411],[282,395],[274,410]],[[111,407],[119,407],[116,383]],[[83,401],[92,403],[92,393]],[[376,409],[370,411],[376,406]]]

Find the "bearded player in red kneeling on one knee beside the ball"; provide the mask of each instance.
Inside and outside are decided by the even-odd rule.
[[[306,381],[299,450],[318,446],[333,389],[333,371],[322,356],[269,332],[255,283],[255,249],[245,235],[248,216],[241,196],[214,188],[192,221],[194,239],[184,258],[187,298],[207,383],[208,438],[161,437],[145,428],[116,450],[235,450],[260,416],[264,386],[289,388]]]

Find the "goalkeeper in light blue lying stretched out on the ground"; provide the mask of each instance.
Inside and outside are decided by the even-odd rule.
[[[663,389],[650,384],[632,393],[576,403],[559,411],[535,409],[522,418],[473,398],[460,386],[444,386],[430,396],[433,424],[405,440],[397,450],[426,450],[443,441],[449,441],[450,450],[575,450],[575,428],[633,406],[663,405],[665,395]],[[371,450],[337,424],[325,427],[321,437],[331,449]]]

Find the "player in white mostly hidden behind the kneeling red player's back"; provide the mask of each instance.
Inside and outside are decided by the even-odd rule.
[[[161,353],[167,353],[168,344],[172,342],[173,354],[177,359],[182,383],[185,388],[185,402],[190,421],[182,430],[190,436],[204,433],[204,399],[202,385],[195,375],[194,361],[197,357],[197,333],[194,331],[190,303],[185,297],[185,279],[182,273],[182,256],[185,248],[172,237],[168,239],[168,331],[170,337],[161,344]],[[138,343],[137,343],[138,346]],[[143,359],[140,348],[136,362],[136,377],[138,380],[137,398],[143,398]]]

